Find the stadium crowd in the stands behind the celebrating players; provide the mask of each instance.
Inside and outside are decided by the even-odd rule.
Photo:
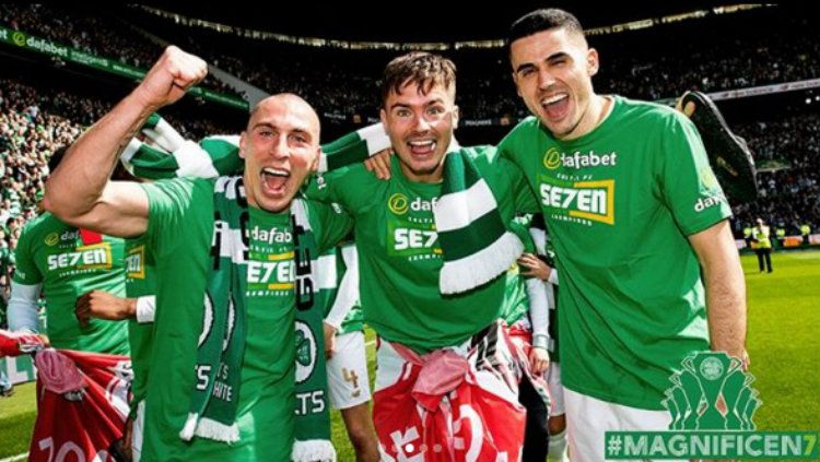
[[[138,28],[109,20],[107,16],[104,20],[78,14],[56,5],[0,5],[0,24],[86,52],[114,57],[134,67],[148,67],[162,46],[139,33]],[[816,34],[806,33],[809,26],[806,17],[794,17],[793,24],[778,27],[771,34],[741,33],[718,38],[721,43],[710,47],[692,40],[678,43],[661,56],[642,55],[639,50],[611,59],[607,71],[596,78],[596,85],[606,93],[658,99],[680,94],[683,90],[711,92],[813,79],[820,69],[820,40]],[[300,59],[301,49],[268,44],[266,46],[283,48],[282,52],[267,54],[265,60],[255,59],[254,66],[248,66],[250,61],[246,55],[258,52],[258,45],[232,46],[235,54],[226,55],[209,46],[223,36],[206,31],[188,32],[191,34],[177,28],[180,35],[168,38],[179,40],[183,48],[201,54],[214,66],[260,88],[300,94],[326,115],[372,115],[378,107],[375,91],[378,72],[374,69],[388,59],[389,51],[356,51],[343,54],[344,58],[340,59],[338,52],[312,49],[315,56],[308,60]],[[628,38],[641,40],[644,37],[641,34],[651,32],[640,32]],[[670,34],[664,39],[675,40],[675,37],[676,34]],[[594,45],[600,40],[605,49],[614,46],[607,37],[591,40]],[[504,52],[495,49],[453,54],[457,63],[464,63],[460,70],[466,76],[459,82],[458,103],[462,118],[517,119],[527,115],[513,93]],[[481,59],[477,59],[476,54]],[[607,56],[612,56],[611,50]],[[317,61],[323,66],[317,67]],[[770,64],[759,66],[760,62]],[[221,91],[227,88],[213,78],[207,83]],[[110,106],[110,100],[80,96],[67,90],[35,88],[13,79],[0,80],[2,293],[8,288],[8,274],[20,230],[36,214],[48,156],[57,147],[75,140],[83,127],[101,118]],[[226,131],[207,119],[165,117],[188,138]],[[741,229],[758,217],[785,227],[789,233],[797,233],[804,223],[816,228],[820,224],[820,116],[800,115],[734,126],[733,129],[749,141],[759,166],[762,162],[773,162],[759,173],[760,199],[734,210],[736,237],[740,238]]]

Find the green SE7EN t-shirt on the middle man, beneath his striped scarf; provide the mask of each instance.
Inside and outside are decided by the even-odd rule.
[[[495,194],[504,223],[516,209],[536,210],[520,171],[503,159],[492,163],[494,147],[465,151]],[[389,180],[380,180],[363,165],[342,168],[312,183],[307,194],[339,203],[355,222],[365,323],[419,353],[457,345],[501,315],[506,277],[443,296],[442,249],[433,220],[442,183],[406,179],[395,157],[391,170]]]

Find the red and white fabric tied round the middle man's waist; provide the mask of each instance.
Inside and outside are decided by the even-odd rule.
[[[505,377],[509,367],[499,363],[518,352],[508,350],[513,345],[503,328],[497,329],[493,348],[473,347],[460,360],[453,352],[419,356],[391,344],[409,360],[396,383],[374,394],[373,420],[383,461],[519,460],[526,411],[515,400],[517,382],[509,388]]]

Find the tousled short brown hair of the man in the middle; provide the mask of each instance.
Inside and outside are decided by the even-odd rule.
[[[382,78],[382,104],[390,92],[401,93],[406,82],[414,83],[426,95],[435,84],[455,91],[456,64],[449,59],[426,51],[412,51],[387,63]]]

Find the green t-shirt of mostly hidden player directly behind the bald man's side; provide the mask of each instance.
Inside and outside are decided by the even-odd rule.
[[[145,235],[126,239],[126,295],[128,298],[139,298],[156,293],[155,264]],[[132,403],[139,403],[145,398],[153,328],[153,322],[140,323],[136,319],[128,321],[128,341],[131,345],[131,368],[133,369]]]

